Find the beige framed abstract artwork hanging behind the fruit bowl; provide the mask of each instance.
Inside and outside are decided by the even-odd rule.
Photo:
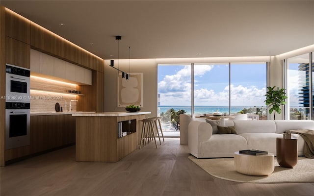
[[[118,73],[118,107],[143,107],[143,73],[129,73],[129,79]]]

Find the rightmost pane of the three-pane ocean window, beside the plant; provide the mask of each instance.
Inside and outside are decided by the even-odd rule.
[[[266,62],[231,63],[231,113],[245,113],[253,120],[266,120]]]

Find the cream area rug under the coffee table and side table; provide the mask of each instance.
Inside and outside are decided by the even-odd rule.
[[[299,157],[295,167],[280,167],[275,158],[275,170],[265,176],[251,176],[235,171],[234,158],[195,158],[188,157],[210,175],[217,178],[246,183],[289,183],[314,182],[314,159]]]

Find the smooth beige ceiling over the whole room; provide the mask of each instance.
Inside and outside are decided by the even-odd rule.
[[[118,58],[115,35],[120,59],[129,46],[131,58],[185,58],[269,56],[314,44],[314,1],[0,3],[104,59]]]

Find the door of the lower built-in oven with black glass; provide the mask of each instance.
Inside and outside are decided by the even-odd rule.
[[[5,109],[5,149],[30,144],[29,109]]]

